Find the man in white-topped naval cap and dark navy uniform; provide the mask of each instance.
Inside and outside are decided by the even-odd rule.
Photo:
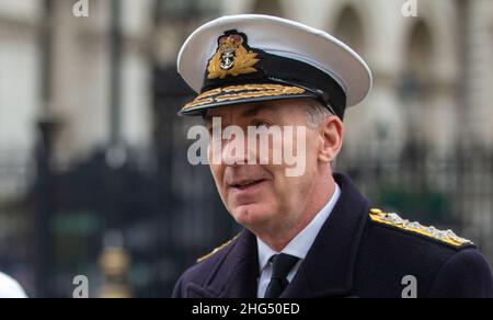
[[[244,230],[186,271],[174,297],[492,297],[490,266],[471,241],[372,209],[332,172],[344,111],[371,87],[346,45],[287,20],[226,16],[191,35],[179,72],[200,92],[180,114],[205,118],[217,190]],[[303,145],[303,174],[261,161],[238,132],[214,134],[231,126],[306,128],[288,140]],[[272,160],[279,146],[270,139],[266,149]]]

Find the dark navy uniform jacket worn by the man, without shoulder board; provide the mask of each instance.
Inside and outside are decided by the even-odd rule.
[[[341,197],[282,298],[401,298],[406,276],[419,298],[493,297],[491,268],[472,243],[374,219],[352,181],[334,176]],[[243,230],[186,271],[173,297],[256,298],[259,276],[256,238]]]

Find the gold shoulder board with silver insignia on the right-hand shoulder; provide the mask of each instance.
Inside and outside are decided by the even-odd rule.
[[[451,230],[442,231],[435,227],[425,227],[419,222],[404,220],[397,214],[387,214],[379,209],[371,209],[369,216],[371,220],[377,224],[392,226],[401,230],[425,236],[452,247],[460,248],[466,245],[474,245],[472,241],[458,237]]]

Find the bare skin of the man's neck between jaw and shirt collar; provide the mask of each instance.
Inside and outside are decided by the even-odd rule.
[[[321,192],[322,191],[322,192]],[[323,179],[313,185],[311,198],[307,202],[302,215],[289,226],[280,224],[255,233],[265,244],[276,252],[283,251],[317,217],[335,193],[335,181]]]

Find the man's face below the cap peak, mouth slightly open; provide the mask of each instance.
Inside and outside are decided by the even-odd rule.
[[[229,213],[242,226],[249,229],[262,228],[289,228],[297,224],[308,201],[311,198],[316,176],[319,172],[318,157],[323,139],[320,133],[308,126],[306,102],[302,100],[274,101],[265,103],[253,103],[237,106],[227,106],[210,110],[206,123],[213,130],[213,118],[220,118],[222,129],[228,126],[238,126],[246,137],[249,127],[272,127],[294,128],[293,138],[288,142],[306,144],[306,170],[300,176],[287,176],[286,169],[289,165],[283,160],[282,164],[259,164],[261,163],[260,145],[255,147],[245,142],[244,155],[231,155],[230,146],[234,138],[218,142],[221,146],[221,164],[209,161],[210,169],[217,185],[217,190]],[[297,135],[297,127],[306,128],[306,137]],[[217,128],[216,128],[217,129]],[[286,140],[280,145],[268,141],[268,155],[284,148]],[[294,147],[296,151],[296,147]],[[265,153],[264,153],[265,155]],[[283,155],[283,153],[280,153]],[[300,155],[297,155],[300,156]],[[213,148],[209,147],[209,160],[213,157]],[[234,157],[236,162],[249,159],[255,160],[256,164],[232,164],[227,165],[228,157]],[[303,157],[301,157],[303,158]],[[229,159],[231,160],[231,159]],[[231,163],[228,161],[227,163]]]

